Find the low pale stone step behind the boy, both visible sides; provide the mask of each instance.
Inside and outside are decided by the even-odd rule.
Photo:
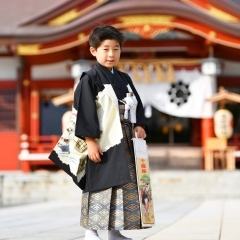
[[[81,201],[81,191],[62,171],[0,172],[0,206],[44,202]],[[240,171],[151,171],[153,198],[240,198]]]

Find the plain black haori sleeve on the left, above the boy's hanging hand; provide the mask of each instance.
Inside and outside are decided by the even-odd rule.
[[[74,92],[74,108],[77,110],[75,136],[79,138],[100,138],[96,95],[96,86],[85,74]]]

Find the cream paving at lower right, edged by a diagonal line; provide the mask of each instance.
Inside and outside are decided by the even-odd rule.
[[[239,240],[240,199],[203,201],[147,240]]]

